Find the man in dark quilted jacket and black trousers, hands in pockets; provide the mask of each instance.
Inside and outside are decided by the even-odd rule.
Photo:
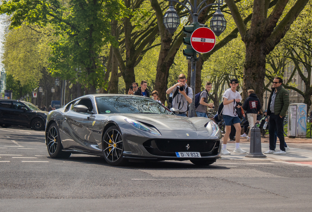
[[[289,94],[287,90],[283,88],[282,83],[282,78],[276,77],[273,80],[272,92],[267,106],[267,115],[269,119],[270,149],[264,154],[286,154],[283,123],[289,106]],[[274,151],[276,145],[274,142],[275,130],[277,131],[277,136],[280,139],[280,151],[277,152]]]

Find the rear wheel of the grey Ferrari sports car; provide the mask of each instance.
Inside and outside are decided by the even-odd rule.
[[[69,152],[63,152],[61,138],[56,123],[52,123],[47,133],[47,149],[51,158],[68,159],[71,156]]]

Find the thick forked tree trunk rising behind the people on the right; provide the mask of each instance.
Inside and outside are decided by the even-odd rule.
[[[262,102],[266,55],[272,52],[309,0],[253,0],[251,24],[246,25],[237,5],[225,0],[246,46],[243,97],[254,89]],[[245,3],[245,1],[242,1]],[[259,83],[261,82],[261,83]]]

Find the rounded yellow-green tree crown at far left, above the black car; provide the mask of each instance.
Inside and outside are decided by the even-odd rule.
[[[6,72],[22,86],[38,84],[48,66],[50,53],[47,36],[31,27],[36,28],[22,25],[10,30],[4,37],[2,63]]]

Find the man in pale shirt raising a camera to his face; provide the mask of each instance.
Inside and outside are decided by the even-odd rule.
[[[191,104],[193,100],[193,90],[187,86],[185,75],[180,74],[178,83],[168,88],[166,93],[173,94],[172,107],[179,110],[177,115],[186,116],[188,104]]]

